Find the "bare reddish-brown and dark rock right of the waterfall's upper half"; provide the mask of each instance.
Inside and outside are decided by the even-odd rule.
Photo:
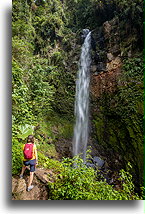
[[[106,21],[94,34],[98,42],[99,61],[91,67],[91,96],[94,100],[105,93],[114,93],[119,85],[122,59],[119,44],[118,20]],[[105,47],[100,45],[103,39]]]

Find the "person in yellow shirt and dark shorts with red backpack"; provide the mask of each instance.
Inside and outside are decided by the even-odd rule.
[[[34,172],[36,169],[36,164],[38,164],[38,156],[37,156],[37,148],[34,144],[34,136],[29,135],[27,138],[27,143],[23,146],[23,154],[24,154],[24,160],[23,160],[23,167],[20,174],[20,178],[23,178],[23,174],[25,172],[25,169],[27,166],[30,166],[30,176],[29,176],[29,182],[28,182],[28,188],[27,191],[33,189],[34,185],[32,185]]]

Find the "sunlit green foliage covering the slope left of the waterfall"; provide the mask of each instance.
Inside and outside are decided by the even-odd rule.
[[[72,133],[75,84],[67,68],[69,54],[61,45],[65,48],[70,43],[66,38],[66,23],[58,0],[13,1],[13,174],[20,170],[22,158],[17,153],[29,134],[33,133],[39,141],[40,152],[45,149],[45,155],[57,157],[54,144],[48,143],[60,135],[70,137]],[[40,129],[32,130],[37,126]],[[58,129],[57,134],[53,133],[54,127]]]

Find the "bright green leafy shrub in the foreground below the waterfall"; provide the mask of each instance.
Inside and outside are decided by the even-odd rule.
[[[63,170],[54,183],[49,183],[52,200],[133,200],[134,186],[129,173],[122,171],[123,189],[115,190],[99,179],[93,168],[88,168],[79,157],[64,159]]]

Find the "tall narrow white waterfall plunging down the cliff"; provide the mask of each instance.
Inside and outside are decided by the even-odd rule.
[[[75,97],[75,116],[76,124],[74,127],[73,155],[82,154],[86,159],[86,149],[88,142],[88,123],[89,123],[89,83],[91,65],[91,32],[83,30],[85,40],[81,50],[79,72],[76,81]]]

